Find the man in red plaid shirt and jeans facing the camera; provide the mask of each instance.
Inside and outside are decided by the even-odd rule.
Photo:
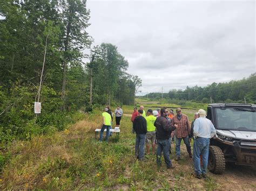
[[[186,147],[187,152],[190,155],[190,158],[192,158],[191,153],[191,146],[189,141],[189,135],[190,135],[190,125],[188,123],[188,118],[186,115],[181,114],[181,109],[176,109],[177,115],[173,116],[172,118],[172,125],[178,124],[178,128],[176,128],[176,160],[180,160],[180,143],[183,139]]]

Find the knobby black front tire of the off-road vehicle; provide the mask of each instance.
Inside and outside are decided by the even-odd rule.
[[[214,174],[222,174],[225,171],[226,162],[223,151],[218,146],[210,146],[208,157],[208,169]]]

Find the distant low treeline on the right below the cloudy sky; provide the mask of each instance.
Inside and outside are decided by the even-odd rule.
[[[150,93],[143,97],[160,100],[161,93]],[[212,83],[205,87],[186,87],[185,90],[172,89],[169,93],[163,93],[163,98],[170,102],[187,100],[194,102],[210,103],[231,103],[238,102],[256,104],[256,73],[250,77],[238,81],[226,83]]]

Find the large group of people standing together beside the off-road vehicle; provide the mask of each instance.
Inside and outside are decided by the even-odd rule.
[[[147,113],[147,116],[145,115]],[[157,165],[161,165],[161,153],[167,168],[174,168],[170,159],[171,143],[176,138],[176,160],[180,160],[181,140],[186,145],[186,150],[190,158],[194,161],[194,176],[196,178],[206,178],[208,149],[210,139],[215,136],[216,130],[212,122],[206,118],[206,111],[200,109],[194,114],[194,121],[188,123],[188,117],[182,114],[181,109],[176,109],[176,115],[173,110],[161,108],[144,111],[140,106],[139,110],[134,107],[132,114],[132,131],[136,132],[135,154],[138,160],[144,159],[144,147],[146,143],[146,153],[150,154],[150,144],[152,144],[152,154],[155,154],[157,143]],[[193,154],[191,151],[191,139],[193,138]],[[203,168],[200,160],[203,159]]]

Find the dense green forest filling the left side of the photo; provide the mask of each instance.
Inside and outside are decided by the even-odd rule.
[[[0,16],[1,146],[63,130],[77,110],[134,103],[142,81],[126,73],[116,46],[91,48],[86,1],[6,0]],[[41,102],[40,115],[34,102]]]

